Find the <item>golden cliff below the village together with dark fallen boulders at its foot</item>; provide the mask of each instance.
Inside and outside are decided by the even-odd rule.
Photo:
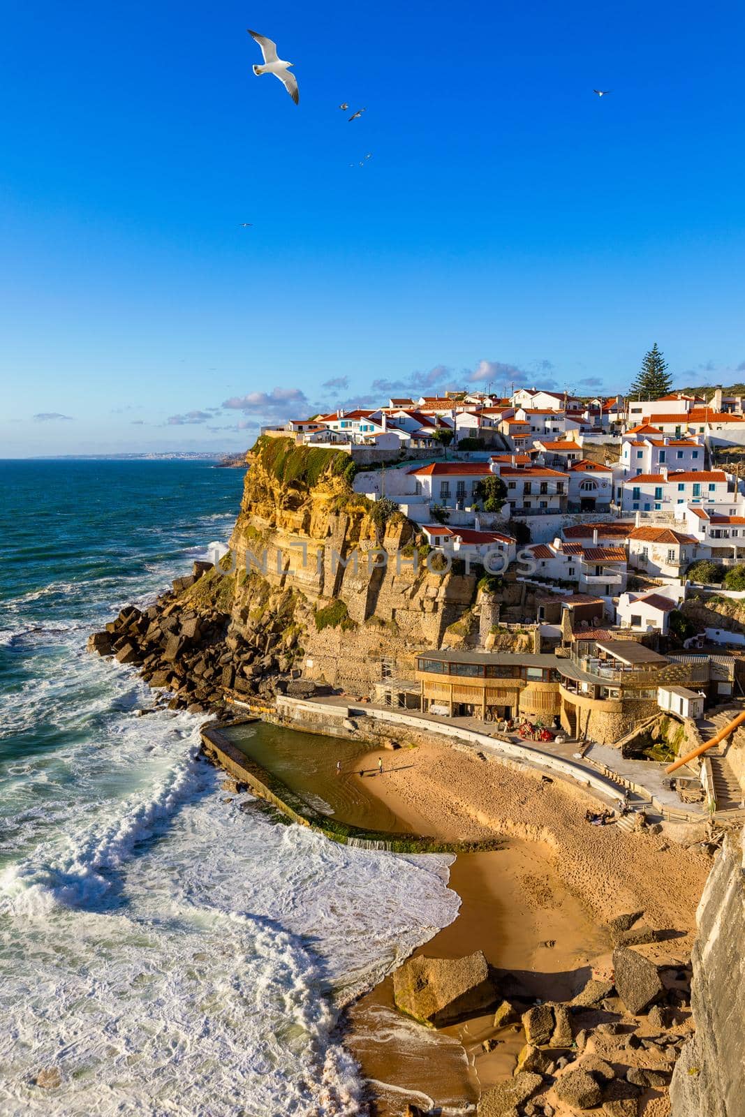
[[[395,506],[352,490],[353,469],[343,451],[259,439],[223,570],[197,563],[92,650],[140,666],[174,705],[207,707],[268,696],[295,669],[362,691],[383,658],[411,677],[418,651],[477,640],[477,574],[428,558]]]

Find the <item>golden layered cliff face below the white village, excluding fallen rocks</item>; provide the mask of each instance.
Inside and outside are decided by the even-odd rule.
[[[270,451],[252,455],[230,540],[236,570],[221,586],[230,593],[229,637],[248,642],[265,617],[280,617],[306,677],[366,685],[380,678],[381,657],[411,670],[413,653],[439,648],[467,612],[476,575],[428,570],[399,513],[376,523],[374,506],[343,476],[346,455],[317,477],[306,460],[293,477]]]

